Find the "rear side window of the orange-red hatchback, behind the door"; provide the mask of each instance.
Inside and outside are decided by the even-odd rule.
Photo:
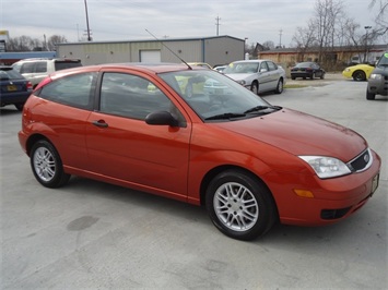
[[[95,83],[96,73],[69,75],[47,84],[36,95],[63,105],[90,109]]]

